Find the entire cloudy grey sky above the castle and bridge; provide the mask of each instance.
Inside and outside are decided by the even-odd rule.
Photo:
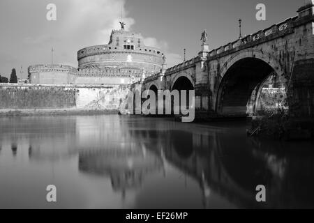
[[[57,21],[48,21],[49,3],[57,6]],[[257,21],[257,3],[266,6],[266,20]],[[216,49],[297,15],[304,0],[1,0],[0,75],[26,78],[33,64],[54,63],[77,67],[77,50],[107,44],[112,29],[142,33],[144,43],[160,48],[167,66],[174,66],[200,52],[203,30],[209,48]],[[22,66],[22,72],[21,72]]]

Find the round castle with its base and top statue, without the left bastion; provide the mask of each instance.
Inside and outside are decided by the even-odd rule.
[[[160,49],[147,47],[140,33],[113,30],[107,45],[86,47],[77,52],[78,84],[87,83],[91,70],[98,70],[98,82],[105,84],[127,84],[132,79],[140,79],[142,72],[153,75],[162,68],[164,55]],[[111,70],[108,73],[108,68]],[[113,71],[114,70],[114,71]],[[114,75],[110,75],[114,73]],[[105,76],[110,77],[105,77]],[[110,78],[110,79],[108,79]],[[107,80],[106,80],[107,79]],[[89,79],[89,81],[93,81]],[[93,83],[96,84],[96,83]]]

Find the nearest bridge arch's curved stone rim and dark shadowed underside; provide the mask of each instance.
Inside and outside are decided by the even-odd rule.
[[[271,74],[286,82],[278,61],[262,51],[246,49],[232,56],[220,69],[220,83],[214,97],[218,114],[245,116],[253,90]]]

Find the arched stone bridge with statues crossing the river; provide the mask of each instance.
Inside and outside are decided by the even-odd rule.
[[[216,116],[246,116],[248,101],[257,105],[270,75],[287,92],[290,115],[314,116],[314,1],[298,15],[209,50],[202,43],[195,58],[135,84],[144,90],[195,90],[196,112]],[[254,95],[253,95],[254,94]]]

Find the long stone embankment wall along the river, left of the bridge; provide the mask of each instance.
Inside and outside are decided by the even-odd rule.
[[[117,110],[126,85],[0,84],[1,109]]]

